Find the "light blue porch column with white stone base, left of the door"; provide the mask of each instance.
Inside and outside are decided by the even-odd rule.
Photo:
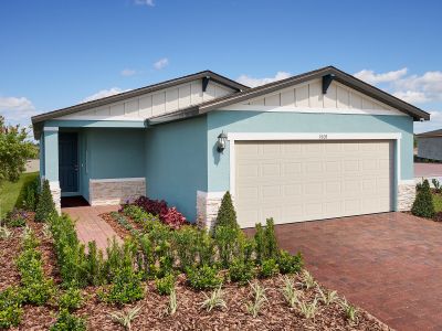
[[[59,181],[59,128],[44,127],[44,179],[49,181],[55,209],[61,212],[61,189]]]

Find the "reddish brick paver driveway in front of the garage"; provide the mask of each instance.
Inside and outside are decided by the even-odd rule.
[[[397,330],[442,330],[442,224],[386,213],[276,226],[326,287]]]

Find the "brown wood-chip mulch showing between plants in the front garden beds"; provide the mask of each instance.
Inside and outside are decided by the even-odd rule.
[[[112,217],[104,217],[106,221]],[[120,236],[129,235],[115,221],[114,229]],[[34,223],[31,220],[29,225],[35,231],[41,241],[40,249],[45,261],[45,271],[60,281],[55,256],[51,239],[43,234],[43,224]],[[135,225],[135,224],[134,224]],[[2,273],[0,275],[1,288],[7,285],[20,281],[14,257],[20,252],[20,233],[15,229],[12,238],[0,241],[0,264]],[[297,276],[295,281],[301,281]],[[257,280],[266,288],[266,303],[261,314],[254,319],[245,309],[245,303],[251,301],[251,289],[249,286],[236,284],[224,284],[223,292],[227,309],[207,312],[201,309],[200,302],[206,297],[202,291],[193,291],[186,286],[185,276],[179,276],[177,280],[177,301],[178,310],[172,317],[166,314],[166,307],[169,297],[159,296],[154,281],[146,282],[146,296],[143,300],[126,305],[124,307],[103,303],[97,297],[97,287],[88,287],[83,290],[85,297],[84,306],[75,314],[87,319],[88,330],[124,330],[123,327],[112,321],[109,313],[127,310],[134,307],[141,307],[139,316],[134,320],[131,330],[389,330],[377,319],[369,316],[364,310],[359,310],[359,321],[352,325],[346,320],[345,313],[338,303],[324,306],[318,303],[319,310],[314,319],[307,320],[301,316],[297,309],[290,308],[281,293],[283,284],[282,277],[274,277],[265,280]],[[317,295],[316,289],[303,289],[303,300],[312,302]],[[11,330],[48,330],[56,319],[57,308],[46,305],[44,307],[24,306],[22,323]]]

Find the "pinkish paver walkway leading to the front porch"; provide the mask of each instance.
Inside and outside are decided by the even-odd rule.
[[[112,226],[98,215],[117,211],[118,207],[118,205],[76,206],[62,209],[62,212],[67,213],[72,220],[76,220],[75,228],[80,241],[85,244],[95,241],[97,247],[106,252],[107,239],[115,236],[119,241],[119,237]]]

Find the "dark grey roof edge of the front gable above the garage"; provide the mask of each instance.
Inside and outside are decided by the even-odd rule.
[[[389,105],[400,111],[403,111],[407,115],[410,115],[413,117],[414,120],[429,120],[430,119],[430,114],[413,106],[410,105],[391,94],[388,94],[370,84],[367,84],[358,78],[356,78],[352,75],[349,75],[334,66],[326,66],[316,71],[312,71],[305,74],[301,74],[297,76],[293,76],[286,79],[277,81],[274,83],[265,84],[262,86],[257,86],[254,88],[249,88],[244,89],[240,93],[235,93],[232,95],[228,95],[221,98],[215,98],[207,103],[202,103],[196,106],[191,106],[186,109],[180,109],[178,111],[169,113],[169,114],[164,114],[157,117],[152,117],[148,119],[148,122],[150,125],[156,125],[156,124],[161,124],[161,122],[167,122],[171,120],[178,120],[178,119],[183,119],[190,116],[197,116],[197,115],[202,115],[208,111],[219,109],[225,106],[230,106],[236,103],[241,103],[246,99],[255,98],[265,94],[270,94],[280,89],[283,89],[285,87],[301,84],[311,79],[315,78],[320,78],[327,75],[332,75],[335,81],[351,87],[365,95],[368,95],[372,97],[373,99],[377,99],[386,105]]]

